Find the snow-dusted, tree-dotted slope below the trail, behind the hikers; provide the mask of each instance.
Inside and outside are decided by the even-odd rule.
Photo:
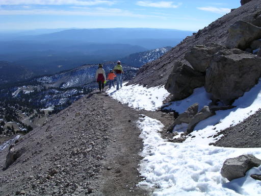
[[[115,64],[103,64],[106,74]],[[137,68],[125,64],[123,66],[124,80],[135,76]],[[83,65],[59,74],[3,86],[0,89],[0,119],[6,126],[0,127],[0,137],[1,134],[13,134],[8,126],[14,126],[15,132],[27,132],[27,126],[39,127],[42,124],[41,118],[59,112],[97,88],[94,79],[96,69],[97,65]]]

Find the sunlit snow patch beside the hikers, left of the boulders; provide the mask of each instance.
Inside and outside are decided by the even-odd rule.
[[[126,84],[123,83],[119,90],[116,90],[115,84],[115,88],[108,89],[107,93],[122,104],[128,104],[129,107],[138,110],[155,111],[162,106],[163,101],[170,94],[164,86],[145,88],[139,85],[126,86]]]

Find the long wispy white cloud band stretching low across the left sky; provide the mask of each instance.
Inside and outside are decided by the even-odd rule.
[[[74,7],[77,8],[77,7]],[[163,16],[136,14],[116,8],[81,8],[73,10],[31,9],[31,10],[3,10],[0,15],[74,15],[74,16],[122,16],[134,18],[164,18]]]

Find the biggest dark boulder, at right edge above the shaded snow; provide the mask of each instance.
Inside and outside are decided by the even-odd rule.
[[[230,52],[217,53],[205,76],[206,91],[226,104],[250,90],[258,82],[261,74],[260,57],[250,53]]]

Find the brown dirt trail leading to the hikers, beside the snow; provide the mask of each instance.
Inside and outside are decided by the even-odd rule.
[[[106,94],[97,95],[105,101],[112,125],[108,134],[111,142],[107,146],[106,158],[102,161],[106,169],[99,176],[100,191],[106,196],[149,195],[148,190],[136,187],[142,181],[137,168],[142,158],[139,153],[143,148],[136,122],[140,114],[161,120],[162,113],[134,110]]]

